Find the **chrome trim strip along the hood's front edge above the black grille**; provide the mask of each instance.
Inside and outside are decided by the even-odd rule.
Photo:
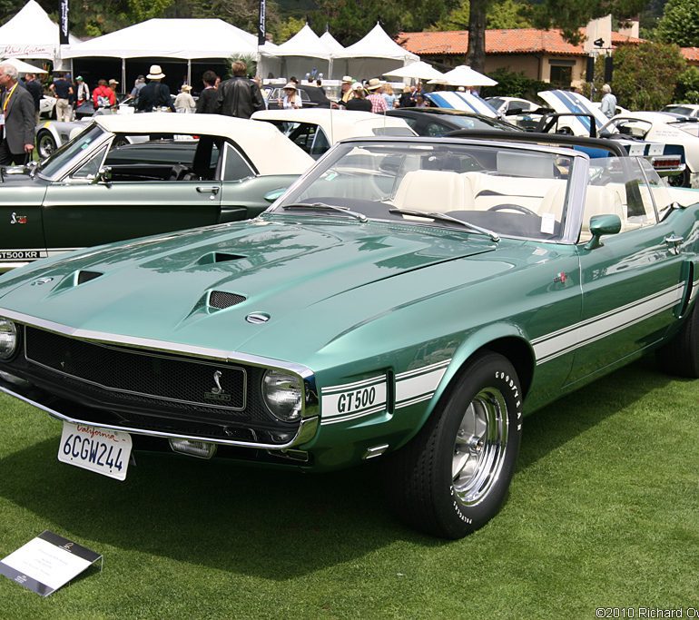
[[[289,370],[299,375],[302,379],[309,379],[313,376],[313,371],[301,364],[285,361],[283,359],[263,358],[257,355],[248,353],[240,353],[238,351],[229,351],[226,349],[210,349],[207,347],[197,347],[194,345],[182,344],[180,342],[172,342],[167,340],[153,340],[150,338],[140,338],[138,336],[123,336],[121,334],[112,334],[106,331],[82,330],[80,328],[70,327],[62,323],[56,323],[53,320],[39,319],[24,312],[15,312],[15,310],[7,310],[0,308],[0,316],[7,319],[16,320],[25,325],[31,325],[48,331],[54,331],[57,334],[70,336],[80,340],[90,340],[94,342],[103,342],[105,344],[122,344],[136,349],[159,350],[169,353],[185,353],[197,358],[218,359],[224,362],[250,364],[251,366],[259,366],[262,368],[273,368]]]

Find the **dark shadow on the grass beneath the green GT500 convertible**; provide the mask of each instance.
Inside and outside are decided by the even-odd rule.
[[[519,469],[668,380],[642,361],[538,411],[526,420]],[[118,482],[58,463],[57,449],[55,438],[0,461],[2,494],[79,540],[274,580],[348,562],[397,540],[445,544],[389,514],[375,464],[302,475],[138,453],[138,466]]]

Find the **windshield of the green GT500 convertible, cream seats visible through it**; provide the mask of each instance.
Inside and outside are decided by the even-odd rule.
[[[576,160],[562,153],[493,144],[340,143],[271,212],[558,240]]]

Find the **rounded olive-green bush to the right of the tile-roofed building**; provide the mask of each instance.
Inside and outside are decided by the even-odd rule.
[[[622,45],[614,54],[612,90],[620,105],[658,110],[672,103],[675,84],[685,67],[677,45]]]

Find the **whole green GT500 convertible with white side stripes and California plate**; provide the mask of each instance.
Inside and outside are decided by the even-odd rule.
[[[650,351],[699,376],[699,192],[604,145],[349,140],[254,220],[7,273],[2,389],[64,463],[377,459],[399,517],[465,536],[526,414]]]

